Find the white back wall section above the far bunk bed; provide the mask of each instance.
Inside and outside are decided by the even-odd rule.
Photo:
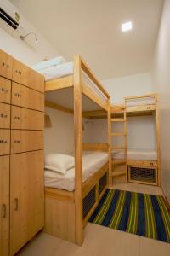
[[[138,96],[152,93],[150,73],[140,73],[116,79],[106,79],[102,84],[111,95],[111,102],[122,103],[123,96]]]

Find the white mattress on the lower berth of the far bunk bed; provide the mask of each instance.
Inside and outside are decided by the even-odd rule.
[[[123,151],[113,151],[112,156],[114,159],[124,159],[125,154]],[[128,160],[157,160],[155,150],[147,149],[129,149],[127,150]]]

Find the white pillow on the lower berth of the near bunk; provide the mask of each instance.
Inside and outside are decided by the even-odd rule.
[[[47,154],[45,157],[45,168],[54,172],[65,174],[66,171],[75,166],[75,158],[68,154]]]

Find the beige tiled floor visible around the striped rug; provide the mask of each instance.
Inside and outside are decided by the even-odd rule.
[[[116,189],[161,195],[161,189],[128,183],[116,185]],[[170,244],[142,236],[111,230],[88,224],[84,243],[78,247],[54,236],[40,233],[18,256],[169,256]]]

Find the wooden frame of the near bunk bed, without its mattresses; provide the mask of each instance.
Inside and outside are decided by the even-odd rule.
[[[82,149],[83,150],[109,150],[109,144],[82,144],[82,94],[97,103],[105,110],[110,118],[111,100],[99,80],[88,65],[82,61],[80,55],[73,60],[73,74],[60,79],[53,79],[45,83],[45,91],[61,90],[72,87],[74,90],[74,110],[59,106],[53,102],[45,102],[45,106],[74,114],[74,137],[75,137],[75,190],[45,188],[45,229],[52,236],[58,236],[66,241],[82,245],[83,229],[88,219],[99,203],[99,199],[108,187],[109,163],[95,172],[87,181],[82,183]],[[82,83],[82,71],[93,81],[98,90],[105,96],[105,101]],[[94,194],[94,195],[92,195]],[[83,207],[88,209],[83,211]],[[91,200],[91,201],[90,201]]]

